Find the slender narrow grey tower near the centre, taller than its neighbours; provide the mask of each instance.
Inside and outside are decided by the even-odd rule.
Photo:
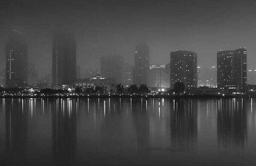
[[[149,83],[149,48],[147,43],[140,43],[135,48],[133,84],[138,86]]]

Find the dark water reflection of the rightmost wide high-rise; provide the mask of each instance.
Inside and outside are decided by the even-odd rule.
[[[219,100],[218,143],[244,147],[247,138],[247,99]]]

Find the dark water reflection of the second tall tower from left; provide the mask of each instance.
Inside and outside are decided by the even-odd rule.
[[[56,165],[71,165],[77,147],[77,116],[75,99],[56,100],[52,105],[53,159]]]

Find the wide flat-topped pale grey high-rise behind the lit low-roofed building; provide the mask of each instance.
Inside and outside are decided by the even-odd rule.
[[[106,78],[113,78],[116,83],[123,83],[124,57],[121,55],[100,56],[100,74]]]

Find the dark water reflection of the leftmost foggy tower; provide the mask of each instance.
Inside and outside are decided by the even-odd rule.
[[[26,164],[28,145],[28,113],[20,100],[5,100],[6,162]]]

